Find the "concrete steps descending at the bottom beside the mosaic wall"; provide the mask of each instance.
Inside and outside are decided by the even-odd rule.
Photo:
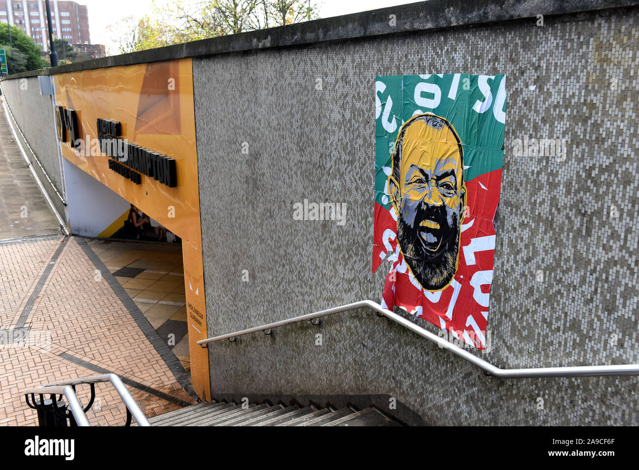
[[[314,406],[206,402],[149,418],[151,426],[399,426],[376,408],[318,409]],[[132,425],[136,425],[132,423]]]

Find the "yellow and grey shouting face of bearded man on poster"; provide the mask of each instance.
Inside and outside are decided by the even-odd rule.
[[[457,271],[466,187],[458,139],[419,119],[408,121],[399,181],[389,188],[397,213],[397,241],[406,264],[426,291],[447,287]]]

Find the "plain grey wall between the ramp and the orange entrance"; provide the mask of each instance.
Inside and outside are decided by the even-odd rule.
[[[49,77],[46,78],[49,79]],[[53,181],[56,190],[65,198],[65,185],[63,183],[61,157],[58,155],[59,144],[56,140],[56,126],[51,96],[40,95],[37,77],[3,80],[2,87],[4,99],[11,109],[20,130],[38,160],[42,163],[45,172]],[[20,143],[33,164],[42,186],[44,186],[62,219],[65,220],[65,205],[56,195],[47,178],[45,178],[40,165],[35,162],[24,140],[20,135],[18,137],[22,140]]]

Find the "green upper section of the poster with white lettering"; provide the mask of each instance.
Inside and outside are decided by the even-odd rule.
[[[435,114],[463,142],[465,180],[502,168],[505,75],[441,73],[375,79],[375,201],[390,208],[387,180],[401,126],[412,116]]]

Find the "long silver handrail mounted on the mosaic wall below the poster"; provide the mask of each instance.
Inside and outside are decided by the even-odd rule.
[[[379,314],[387,317],[388,319],[401,324],[408,330],[417,333],[422,338],[431,340],[439,347],[447,349],[465,359],[466,361],[481,368],[488,375],[495,375],[502,379],[531,379],[541,377],[588,377],[597,375],[639,375],[639,364],[622,364],[622,365],[594,365],[594,366],[569,366],[569,367],[537,367],[537,368],[516,368],[516,369],[502,369],[488,361],[484,361],[478,358],[470,351],[452,344],[445,338],[439,337],[435,333],[422,328],[421,326],[413,323],[410,320],[405,319],[401,315],[397,315],[391,312],[387,308],[381,307],[380,304],[372,300],[362,300],[355,303],[349,303],[347,305],[341,305],[340,307],[327,308],[326,310],[319,310],[319,312],[313,312],[312,314],[301,315],[299,317],[293,317],[288,320],[277,321],[273,323],[267,323],[255,328],[247,328],[246,330],[234,331],[233,333],[227,333],[226,335],[219,335],[212,338],[206,338],[205,340],[199,340],[197,344],[201,347],[207,347],[208,344],[224,340],[227,338],[235,338],[249,333],[256,333],[257,331],[270,330],[270,328],[277,328],[278,326],[284,326],[291,323],[297,323],[304,320],[312,320],[318,317],[325,317],[327,315],[339,314],[342,312],[348,312],[350,310],[356,310],[357,308],[369,307],[378,312]]]

